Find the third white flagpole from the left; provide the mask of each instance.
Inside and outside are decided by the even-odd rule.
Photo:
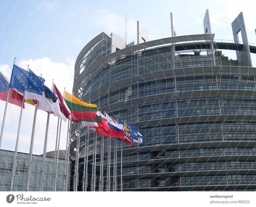
[[[32,135],[31,135],[31,143],[30,143],[30,149],[29,149],[28,170],[27,170],[27,178],[26,178],[26,191],[29,191],[29,183],[30,183],[30,177],[31,177],[32,156],[33,156],[32,153],[33,153],[34,138],[35,138],[36,115],[37,115],[38,102],[39,101],[37,101],[36,108],[35,108],[35,115],[34,115]]]

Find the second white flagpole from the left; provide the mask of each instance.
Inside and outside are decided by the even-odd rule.
[[[15,59],[14,59],[14,63],[15,63]],[[29,65],[28,65],[28,69],[29,69]],[[10,87],[8,89],[8,92],[9,91],[10,91]],[[21,109],[20,109],[20,121],[19,121],[18,133],[17,133],[17,138],[16,138],[15,152],[14,152],[13,162],[12,162],[12,173],[11,173],[11,181],[10,181],[9,191],[12,191],[12,189],[13,189],[13,180],[14,180],[15,172],[16,172],[17,152],[18,152],[18,145],[19,145],[19,138],[20,138],[20,125],[21,125],[21,118],[22,118],[22,112],[23,112],[23,104],[24,104],[24,101],[25,101],[25,92],[26,91],[24,91],[24,93],[23,93]],[[7,95],[7,100],[6,100],[7,102],[8,102],[8,99],[9,99],[9,96]]]

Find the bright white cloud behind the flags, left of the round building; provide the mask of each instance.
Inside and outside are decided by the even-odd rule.
[[[31,70],[39,75],[42,73],[42,77],[46,80],[46,84],[51,87],[52,79],[54,83],[63,92],[64,87],[69,92],[72,92],[73,87],[73,74],[74,74],[74,60],[66,60],[66,63],[55,63],[48,57],[41,59],[22,60],[17,63],[21,68],[27,69],[27,65],[30,65]],[[9,65],[0,65],[0,71],[4,73],[10,79],[11,70]],[[5,102],[0,101],[0,117],[4,114]],[[29,104],[25,104],[25,110],[23,110],[19,152],[29,152],[29,146],[31,141],[31,132],[33,125],[35,107]],[[17,137],[17,129],[20,117],[20,107],[12,104],[8,104],[8,110],[6,115],[6,122],[4,127],[4,136],[1,149],[15,150],[15,143]],[[42,154],[44,149],[44,137],[46,128],[47,113],[42,110],[38,110],[36,119],[35,130],[35,142],[33,154]],[[2,122],[2,120],[0,120]],[[56,131],[57,131],[58,117],[50,115],[50,127],[48,133],[47,152],[55,150]],[[0,125],[1,126],[1,125]],[[62,122],[60,149],[66,149],[68,122]]]

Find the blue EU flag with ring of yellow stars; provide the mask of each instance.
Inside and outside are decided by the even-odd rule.
[[[23,91],[43,94],[44,78],[36,76],[33,72],[28,72],[17,65],[13,66],[10,88],[16,88]]]

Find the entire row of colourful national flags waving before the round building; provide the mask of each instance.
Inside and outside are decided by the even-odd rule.
[[[60,117],[78,122],[82,127],[96,130],[98,135],[115,137],[126,144],[142,143],[142,135],[138,128],[121,120],[115,121],[108,114],[101,114],[96,104],[79,100],[76,96],[64,92],[64,97],[55,84],[52,90],[45,84],[42,77],[32,70],[24,70],[13,65],[11,80],[0,72],[0,100],[25,108],[24,102]],[[23,103],[23,104],[22,104]]]

